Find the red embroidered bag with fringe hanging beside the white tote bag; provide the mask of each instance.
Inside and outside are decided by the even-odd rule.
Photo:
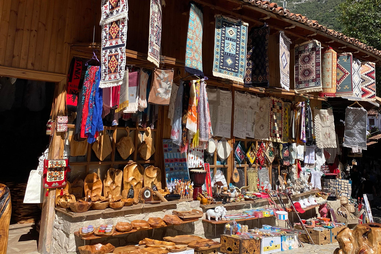
[[[44,188],[57,188],[66,186],[67,159],[56,159],[44,161]]]

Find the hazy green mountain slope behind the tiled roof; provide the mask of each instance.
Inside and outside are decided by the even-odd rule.
[[[339,4],[344,0],[277,0],[278,4],[291,12],[300,13],[312,20],[318,20],[319,24],[341,32],[341,25],[336,18],[340,16]]]

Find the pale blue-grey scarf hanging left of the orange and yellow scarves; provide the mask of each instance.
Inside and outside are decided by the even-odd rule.
[[[173,121],[172,121],[172,131],[171,131],[171,139],[177,144],[181,145],[181,137],[182,137],[182,114],[183,114],[183,94],[184,94],[184,81],[180,82],[179,90],[177,90],[176,100],[175,100],[175,109],[173,113]]]

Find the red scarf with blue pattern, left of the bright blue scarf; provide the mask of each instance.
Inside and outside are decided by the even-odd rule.
[[[91,113],[89,113],[89,105],[90,104],[90,97],[92,97],[92,101],[94,101],[95,96],[95,88],[93,89],[94,85],[94,79],[96,76],[97,71],[99,70],[99,66],[88,66],[85,78],[83,80],[82,85],[82,119],[81,119],[81,130],[80,130],[80,137],[85,138],[86,135],[86,126],[89,128],[91,125],[91,120],[88,119],[88,116],[91,116]],[[94,95],[92,95],[92,92],[94,92]]]

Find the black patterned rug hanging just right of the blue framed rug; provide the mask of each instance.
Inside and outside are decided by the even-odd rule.
[[[246,55],[245,85],[268,87],[268,36],[270,27],[253,27],[249,33],[248,52]]]

